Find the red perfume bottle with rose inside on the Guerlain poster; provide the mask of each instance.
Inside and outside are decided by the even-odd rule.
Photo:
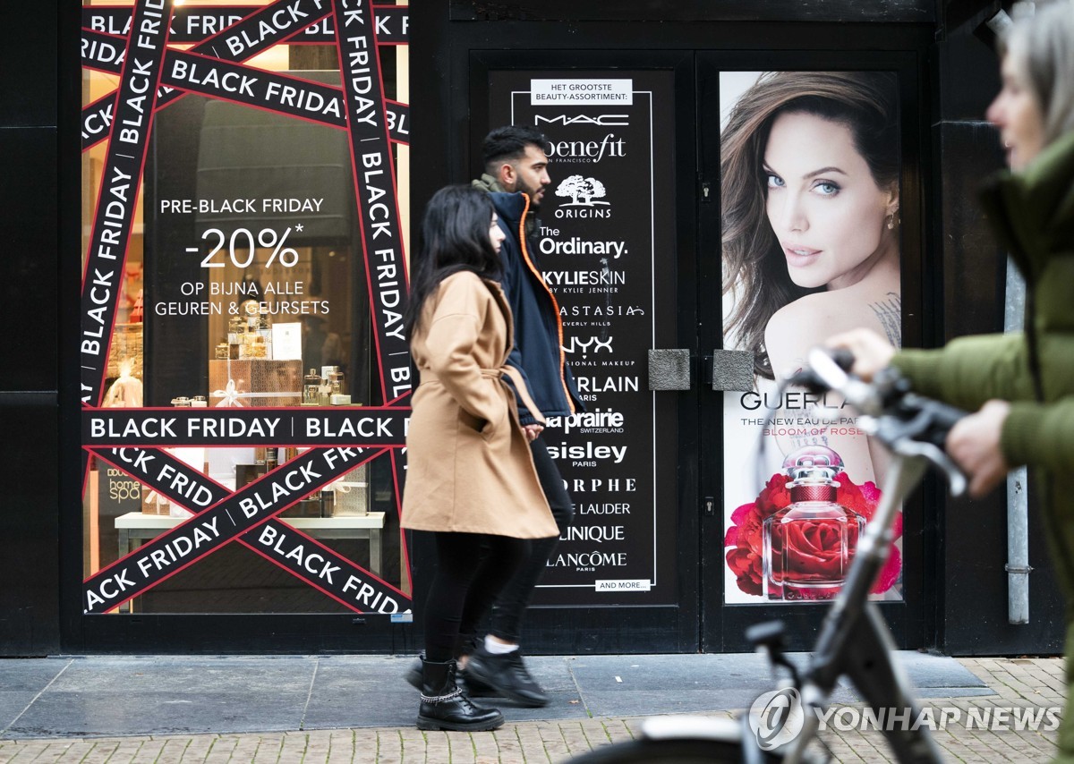
[[[765,518],[765,593],[770,600],[827,600],[846,577],[865,518],[839,503],[842,460],[812,445],[787,456],[790,504]]]

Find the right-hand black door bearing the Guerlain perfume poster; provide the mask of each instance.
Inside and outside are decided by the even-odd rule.
[[[787,464],[832,460],[852,526],[879,500],[886,464],[855,413],[823,401],[826,421],[802,392],[779,396],[778,382],[839,332],[919,341],[916,76],[897,55],[697,54],[697,326],[712,367],[698,399],[703,651],[750,649],[745,628],[768,619],[785,620],[806,648],[838,591],[853,537],[819,520],[774,535],[792,532],[780,530],[793,501]],[[870,214],[847,215],[865,199]],[[873,599],[897,644],[915,647],[919,502],[903,513]]]

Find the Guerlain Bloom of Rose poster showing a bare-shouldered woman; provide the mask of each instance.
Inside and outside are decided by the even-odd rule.
[[[770,599],[760,523],[786,501],[782,479],[758,496],[758,437],[764,474],[827,446],[843,465],[840,501],[866,515],[875,505],[885,454],[854,414],[821,421],[775,387],[833,334],[867,326],[901,344],[901,127],[894,73],[724,72],[720,85],[724,348],[753,353],[755,378],[753,392],[725,394],[725,596],[746,603]],[[899,578],[888,571],[877,596],[898,599]]]

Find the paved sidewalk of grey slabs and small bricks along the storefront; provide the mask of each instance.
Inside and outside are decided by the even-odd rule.
[[[1051,755],[1055,731],[1017,730],[1000,709],[1030,709],[1048,726],[1048,710],[1063,703],[1059,659],[899,657],[935,719],[946,714],[952,720],[957,710],[958,720],[935,735],[952,761],[1041,762]],[[547,708],[499,704],[508,722],[493,733],[420,732],[411,721],[416,693],[401,682],[411,660],[0,660],[0,764],[562,764],[630,739],[645,716],[730,718],[774,687],[753,655],[535,657],[527,660],[553,699]],[[888,761],[881,734],[859,730],[861,704],[854,693],[840,689],[833,702],[838,711],[822,738],[837,760]],[[293,716],[300,706],[301,716]],[[971,726],[987,716],[986,726],[995,729],[968,729],[971,716],[978,720]],[[325,726],[345,717],[351,721]]]

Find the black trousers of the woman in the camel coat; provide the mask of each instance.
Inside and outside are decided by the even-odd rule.
[[[459,628],[471,590],[479,587],[494,597],[524,559],[525,542],[488,533],[434,532],[433,539],[436,574],[425,604],[425,658],[444,662],[459,652]]]

